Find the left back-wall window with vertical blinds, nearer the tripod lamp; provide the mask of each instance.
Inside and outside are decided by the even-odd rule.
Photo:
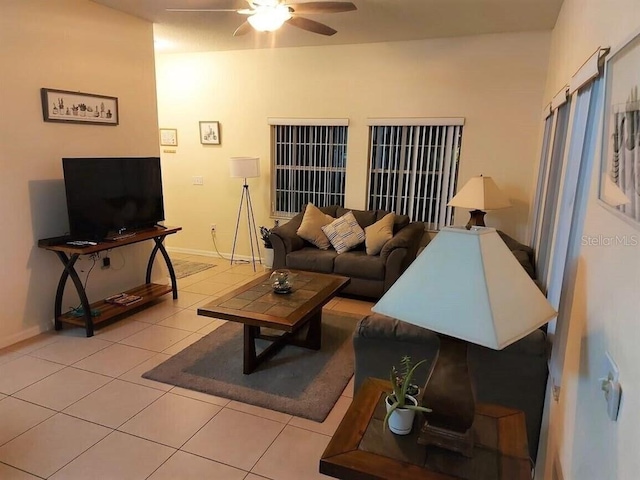
[[[344,205],[345,119],[269,119],[272,134],[272,215],[293,216],[309,202]]]

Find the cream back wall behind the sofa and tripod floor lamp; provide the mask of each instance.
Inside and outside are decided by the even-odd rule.
[[[526,240],[548,48],[549,33],[526,33],[158,55],[160,126],[177,128],[179,142],[162,155],[168,221],[184,227],[169,244],[210,252],[216,223],[219,249],[231,251],[241,193],[232,156],[261,157],[263,175],[249,182],[258,225],[271,225],[267,117],[349,119],[350,208],[366,207],[368,117],[465,117],[459,186],[493,176],[515,206],[488,224]],[[200,145],[201,120],[221,122],[220,146]],[[456,223],[467,219],[461,210]],[[244,254],[246,238],[241,230]]]

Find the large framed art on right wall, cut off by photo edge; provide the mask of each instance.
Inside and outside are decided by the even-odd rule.
[[[599,199],[640,228],[640,33],[605,66]]]

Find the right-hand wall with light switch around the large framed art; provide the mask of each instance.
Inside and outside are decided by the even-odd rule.
[[[565,0],[553,31],[545,98],[550,99],[599,46],[640,31],[637,0]],[[605,106],[605,114],[608,114]],[[640,230],[597,201],[600,155],[591,179],[584,235],[640,239]],[[597,243],[597,242],[596,242]],[[551,402],[544,478],[554,462],[565,480],[635,479],[640,472],[640,247],[582,247],[559,402]],[[617,422],[605,410],[598,377],[605,352],[620,368]]]

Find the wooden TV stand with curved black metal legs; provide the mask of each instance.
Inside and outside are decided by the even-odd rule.
[[[100,242],[96,245],[69,245],[67,242],[69,237],[55,237],[45,238],[38,241],[38,247],[46,250],[53,251],[57,254],[58,258],[64,265],[64,270],[58,281],[58,289],[56,291],[56,298],[54,304],[54,325],[56,330],[62,329],[62,324],[67,323],[70,325],[81,326],[86,329],[87,337],[93,336],[94,326],[99,323],[106,322],[113,319],[116,316],[125,314],[130,310],[137,309],[141,305],[147,304],[156,298],[165,295],[169,292],[173,293],[173,298],[178,298],[178,284],[176,281],[176,274],[171,264],[169,254],[164,247],[164,238],[167,235],[174,234],[182,230],[182,227],[153,227],[146,230],[136,232],[134,235],[126,236],[124,238],[115,239],[109,242]],[[75,270],[75,263],[78,261],[81,255],[90,255],[92,253],[98,253],[105,250],[112,250],[114,248],[124,247],[125,245],[131,245],[134,243],[144,242],[146,240],[153,240],[155,245],[149,256],[147,263],[146,283],[138,287],[127,290],[129,295],[138,295],[142,297],[138,302],[131,305],[116,305],[100,300],[98,302],[89,303],[87,298],[87,292],[84,289],[84,285],[78,276],[78,272]],[[160,285],[151,283],[151,270],[153,269],[153,262],[156,255],[160,251],[164,258],[167,268],[169,269],[169,276],[171,277],[171,285]],[[62,313],[62,296],[64,294],[64,287],[67,280],[71,277],[78,296],[80,297],[80,304],[82,305],[82,314],[75,316],[73,312]],[[99,315],[92,316],[91,312],[99,311]]]

